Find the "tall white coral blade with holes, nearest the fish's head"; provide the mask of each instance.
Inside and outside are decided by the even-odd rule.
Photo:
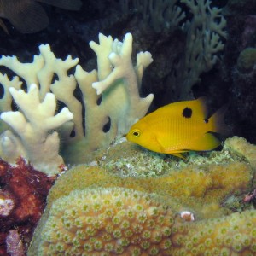
[[[72,145],[65,148],[63,155],[70,163],[83,162],[86,154],[124,135],[147,113],[153,100],[152,94],[146,98],[139,96],[143,71],[153,61],[152,56],[140,52],[136,66],[132,65],[131,33],[125,35],[123,42],[100,34],[99,44],[90,42],[90,48],[97,56],[97,71],[87,73],[78,65],[74,74],[83,94],[85,118],[81,124],[85,127],[85,136],[75,130],[76,136],[69,139]],[[104,131],[105,125],[110,125],[108,131]]]

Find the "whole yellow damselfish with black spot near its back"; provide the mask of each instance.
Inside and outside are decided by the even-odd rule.
[[[189,150],[212,150],[220,144],[212,132],[223,133],[226,130],[224,110],[218,109],[207,119],[204,97],[171,103],[132,125],[126,138],[152,151],[182,158],[181,153]]]

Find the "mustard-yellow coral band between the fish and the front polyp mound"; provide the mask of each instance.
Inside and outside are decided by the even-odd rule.
[[[174,197],[178,199],[179,210],[189,206],[190,210],[195,209],[197,218],[216,218],[229,212],[222,207],[221,201],[227,195],[249,191],[252,177],[250,166],[238,161],[188,165],[160,177],[119,177],[100,167],[77,166],[58,178],[49,192],[48,207],[74,189],[119,187],[157,193],[165,196],[168,204]]]

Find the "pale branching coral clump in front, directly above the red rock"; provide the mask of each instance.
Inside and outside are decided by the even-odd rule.
[[[60,139],[55,130],[67,121],[73,119],[73,113],[62,108],[55,115],[56,101],[54,94],[48,92],[44,101],[39,101],[39,90],[32,84],[26,93],[24,90],[9,88],[20,111],[7,111],[1,114],[1,119],[7,123],[12,131],[5,131],[1,135],[1,157],[13,161],[20,154],[30,160],[35,168],[43,170],[49,175],[58,172],[63,164],[58,154]]]

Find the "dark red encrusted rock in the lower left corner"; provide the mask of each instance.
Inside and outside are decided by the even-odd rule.
[[[0,160],[0,255],[24,254],[53,179],[21,158],[15,166]]]

